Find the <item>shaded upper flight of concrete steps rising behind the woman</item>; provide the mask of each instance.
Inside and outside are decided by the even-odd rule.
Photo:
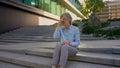
[[[55,28],[48,26],[25,26],[19,29],[9,31],[0,36],[0,41],[10,40],[24,40],[24,41],[42,41],[45,38],[50,39],[53,37]],[[106,40],[102,37],[93,37],[92,35],[81,34],[81,40]],[[50,40],[52,41],[52,40]],[[55,41],[55,40],[54,40]]]

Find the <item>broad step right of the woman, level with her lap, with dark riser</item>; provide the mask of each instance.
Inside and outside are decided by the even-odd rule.
[[[120,54],[120,40],[81,41],[80,51]]]

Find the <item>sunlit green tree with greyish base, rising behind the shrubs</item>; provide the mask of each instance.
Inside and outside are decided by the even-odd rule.
[[[100,25],[100,20],[96,16],[97,12],[101,12],[105,8],[103,0],[84,0],[85,4],[81,4],[82,13],[88,18],[89,24]]]

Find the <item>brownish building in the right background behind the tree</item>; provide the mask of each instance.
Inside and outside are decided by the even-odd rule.
[[[104,0],[106,2],[105,9],[98,13],[101,20],[120,18],[120,0]]]

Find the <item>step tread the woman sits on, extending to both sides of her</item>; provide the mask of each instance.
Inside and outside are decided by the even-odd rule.
[[[54,49],[48,49],[48,48],[1,48],[1,50],[6,50],[6,51],[21,51],[23,53],[47,53],[47,54],[52,54],[54,52]],[[97,57],[97,58],[105,58],[105,59],[119,59],[120,60],[120,55],[115,55],[115,54],[104,54],[104,53],[94,53],[94,52],[83,52],[79,51],[77,53],[77,56],[87,56],[87,57]]]

